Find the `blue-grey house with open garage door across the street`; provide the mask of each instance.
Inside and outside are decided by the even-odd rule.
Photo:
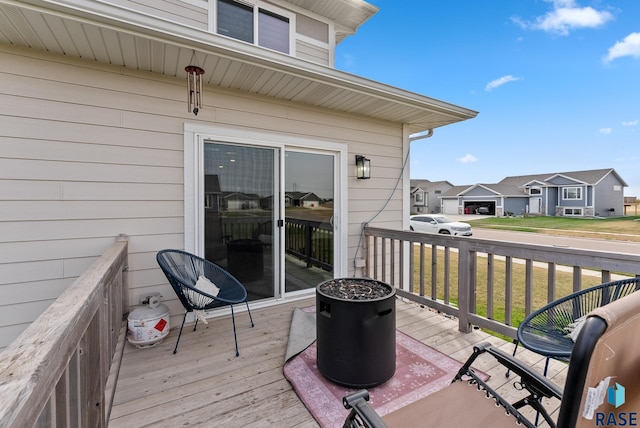
[[[620,216],[626,186],[612,168],[523,175],[456,186],[442,195],[442,206],[447,214]]]

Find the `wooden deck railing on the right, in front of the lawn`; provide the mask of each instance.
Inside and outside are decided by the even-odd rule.
[[[373,227],[364,235],[366,276],[457,317],[463,332],[477,326],[515,339],[519,321],[538,307],[614,276],[640,276],[635,254]]]

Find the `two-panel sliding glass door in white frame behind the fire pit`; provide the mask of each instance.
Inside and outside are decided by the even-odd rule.
[[[304,293],[333,277],[335,158],[204,141],[204,256],[236,276],[249,300]]]

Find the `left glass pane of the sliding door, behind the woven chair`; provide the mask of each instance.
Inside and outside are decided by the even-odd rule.
[[[205,258],[238,278],[249,300],[280,294],[274,262],[278,153],[273,148],[204,144]]]

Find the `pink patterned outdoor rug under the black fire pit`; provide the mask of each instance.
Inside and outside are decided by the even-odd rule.
[[[447,386],[461,366],[459,361],[396,330],[396,372],[382,385],[368,388],[369,403],[380,415],[391,413]],[[320,426],[342,426],[349,413],[342,406],[342,397],[356,389],[334,384],[320,374],[316,342],[285,363],[284,375]]]

